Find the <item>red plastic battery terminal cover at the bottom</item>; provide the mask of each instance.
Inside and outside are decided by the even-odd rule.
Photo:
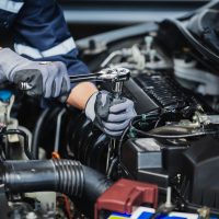
[[[101,210],[131,214],[132,207],[142,204],[158,206],[158,186],[122,178],[111,186],[95,204],[94,218]]]

